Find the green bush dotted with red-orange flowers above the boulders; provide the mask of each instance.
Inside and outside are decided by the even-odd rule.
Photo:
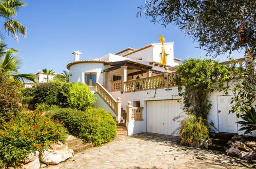
[[[34,151],[49,149],[56,141],[65,142],[63,122],[38,112],[21,113],[0,125],[0,164],[17,164]]]

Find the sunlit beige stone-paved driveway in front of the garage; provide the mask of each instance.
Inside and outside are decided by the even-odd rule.
[[[256,168],[256,162],[182,146],[179,137],[143,133],[93,147],[47,168]]]

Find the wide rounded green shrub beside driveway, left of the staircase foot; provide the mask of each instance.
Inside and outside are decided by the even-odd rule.
[[[101,145],[115,138],[116,122],[112,115],[103,109],[91,108],[79,111],[70,108],[59,108],[52,111],[53,119],[64,121],[69,133]]]

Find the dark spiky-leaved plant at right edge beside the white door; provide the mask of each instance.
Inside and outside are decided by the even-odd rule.
[[[249,112],[242,115],[241,118],[244,121],[238,121],[237,123],[241,124],[243,128],[239,129],[239,131],[245,130],[244,134],[251,134],[256,130],[256,111],[254,107],[251,107]]]

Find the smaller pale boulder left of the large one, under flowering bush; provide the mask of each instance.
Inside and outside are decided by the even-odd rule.
[[[40,161],[39,161],[39,152],[35,151],[32,152],[28,155],[28,157],[22,161],[23,162],[23,166],[22,168],[24,169],[38,169],[40,168]]]

